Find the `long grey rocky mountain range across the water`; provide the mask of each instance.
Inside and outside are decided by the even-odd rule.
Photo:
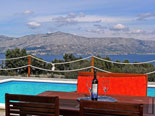
[[[0,53],[13,48],[25,48],[32,54],[53,55],[155,54],[155,41],[122,37],[88,38],[63,32],[20,38],[0,36]]]

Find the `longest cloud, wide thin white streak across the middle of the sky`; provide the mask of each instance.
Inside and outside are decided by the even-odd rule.
[[[60,20],[61,19],[61,20]],[[30,19],[35,22],[76,22],[76,23],[119,23],[119,22],[130,22],[135,19],[130,17],[107,17],[107,16],[96,16],[96,15],[85,15],[83,13],[75,14],[69,13],[66,15],[55,15],[55,16],[43,16],[35,17]],[[67,23],[67,24],[68,24]]]

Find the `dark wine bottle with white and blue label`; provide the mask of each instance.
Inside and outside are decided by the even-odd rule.
[[[91,95],[92,100],[97,100],[98,99],[98,80],[96,78],[96,71],[94,70],[94,78],[92,80],[92,95]]]

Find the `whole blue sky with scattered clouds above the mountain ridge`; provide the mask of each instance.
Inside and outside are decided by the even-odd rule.
[[[155,40],[155,0],[0,0],[0,35],[62,31]]]

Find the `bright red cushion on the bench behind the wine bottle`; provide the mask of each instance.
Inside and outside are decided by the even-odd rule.
[[[104,74],[104,73],[103,73]],[[117,75],[117,74],[116,74]],[[102,75],[103,76],[103,75]],[[77,93],[89,93],[87,81],[92,80],[92,76],[78,76]],[[112,74],[109,77],[98,77],[98,93],[103,94],[102,80],[108,79],[109,95],[130,95],[130,96],[147,96],[147,76],[146,75],[131,75],[116,76]]]

